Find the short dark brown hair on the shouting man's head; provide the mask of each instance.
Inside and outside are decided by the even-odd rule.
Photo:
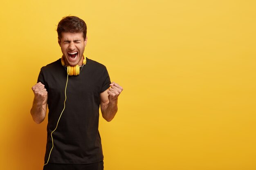
[[[85,22],[76,17],[76,16],[66,16],[63,17],[62,20],[58,23],[57,33],[58,39],[61,39],[62,32],[70,32],[70,33],[83,33],[83,38],[85,40],[87,33],[87,26]]]

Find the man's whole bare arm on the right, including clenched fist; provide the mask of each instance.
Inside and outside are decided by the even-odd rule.
[[[117,99],[123,88],[119,84],[112,82],[110,88],[100,94],[100,104],[102,117],[106,121],[111,121],[117,113]]]

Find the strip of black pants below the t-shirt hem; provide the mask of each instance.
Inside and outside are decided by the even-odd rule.
[[[90,164],[47,163],[43,170],[103,170],[103,161]]]

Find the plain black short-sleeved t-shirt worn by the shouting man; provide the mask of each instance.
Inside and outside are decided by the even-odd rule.
[[[100,93],[110,86],[105,66],[87,58],[79,75],[68,76],[61,59],[41,68],[38,82],[48,92],[48,125],[45,163],[52,148],[51,132],[64,108],[65,110],[53,132],[54,148],[49,162],[87,164],[103,161],[99,135]]]

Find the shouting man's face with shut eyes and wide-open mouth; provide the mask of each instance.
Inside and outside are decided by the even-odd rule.
[[[58,44],[65,58],[65,65],[83,65],[83,51],[87,43],[87,37],[83,38],[83,33],[61,33],[61,40]]]

